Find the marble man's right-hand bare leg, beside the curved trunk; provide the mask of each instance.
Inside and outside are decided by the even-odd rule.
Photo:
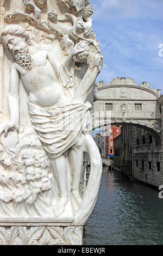
[[[83,170],[83,147],[81,139],[71,148],[69,160],[72,173],[72,197],[74,206],[76,206],[75,208],[78,208],[82,202],[79,194],[80,177]]]

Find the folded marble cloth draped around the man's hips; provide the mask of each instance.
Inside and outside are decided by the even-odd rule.
[[[51,159],[56,159],[79,141],[87,126],[89,107],[71,104],[65,107],[40,107],[28,101],[33,127]]]

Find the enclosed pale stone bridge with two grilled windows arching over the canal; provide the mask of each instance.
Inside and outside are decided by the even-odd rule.
[[[132,125],[147,130],[161,144],[161,90],[147,82],[138,85],[132,78],[117,77],[109,84],[97,83],[93,130],[106,125]]]

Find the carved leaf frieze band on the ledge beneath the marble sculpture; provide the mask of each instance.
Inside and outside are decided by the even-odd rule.
[[[82,227],[0,227],[0,245],[82,245]]]

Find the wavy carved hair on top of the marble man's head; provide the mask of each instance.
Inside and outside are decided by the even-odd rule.
[[[31,44],[31,39],[29,34],[24,31],[24,29],[18,25],[10,25],[3,29],[1,32],[1,38],[0,42],[2,45],[4,45],[3,36],[5,35],[16,35],[20,36],[21,38],[24,38],[28,45]]]

